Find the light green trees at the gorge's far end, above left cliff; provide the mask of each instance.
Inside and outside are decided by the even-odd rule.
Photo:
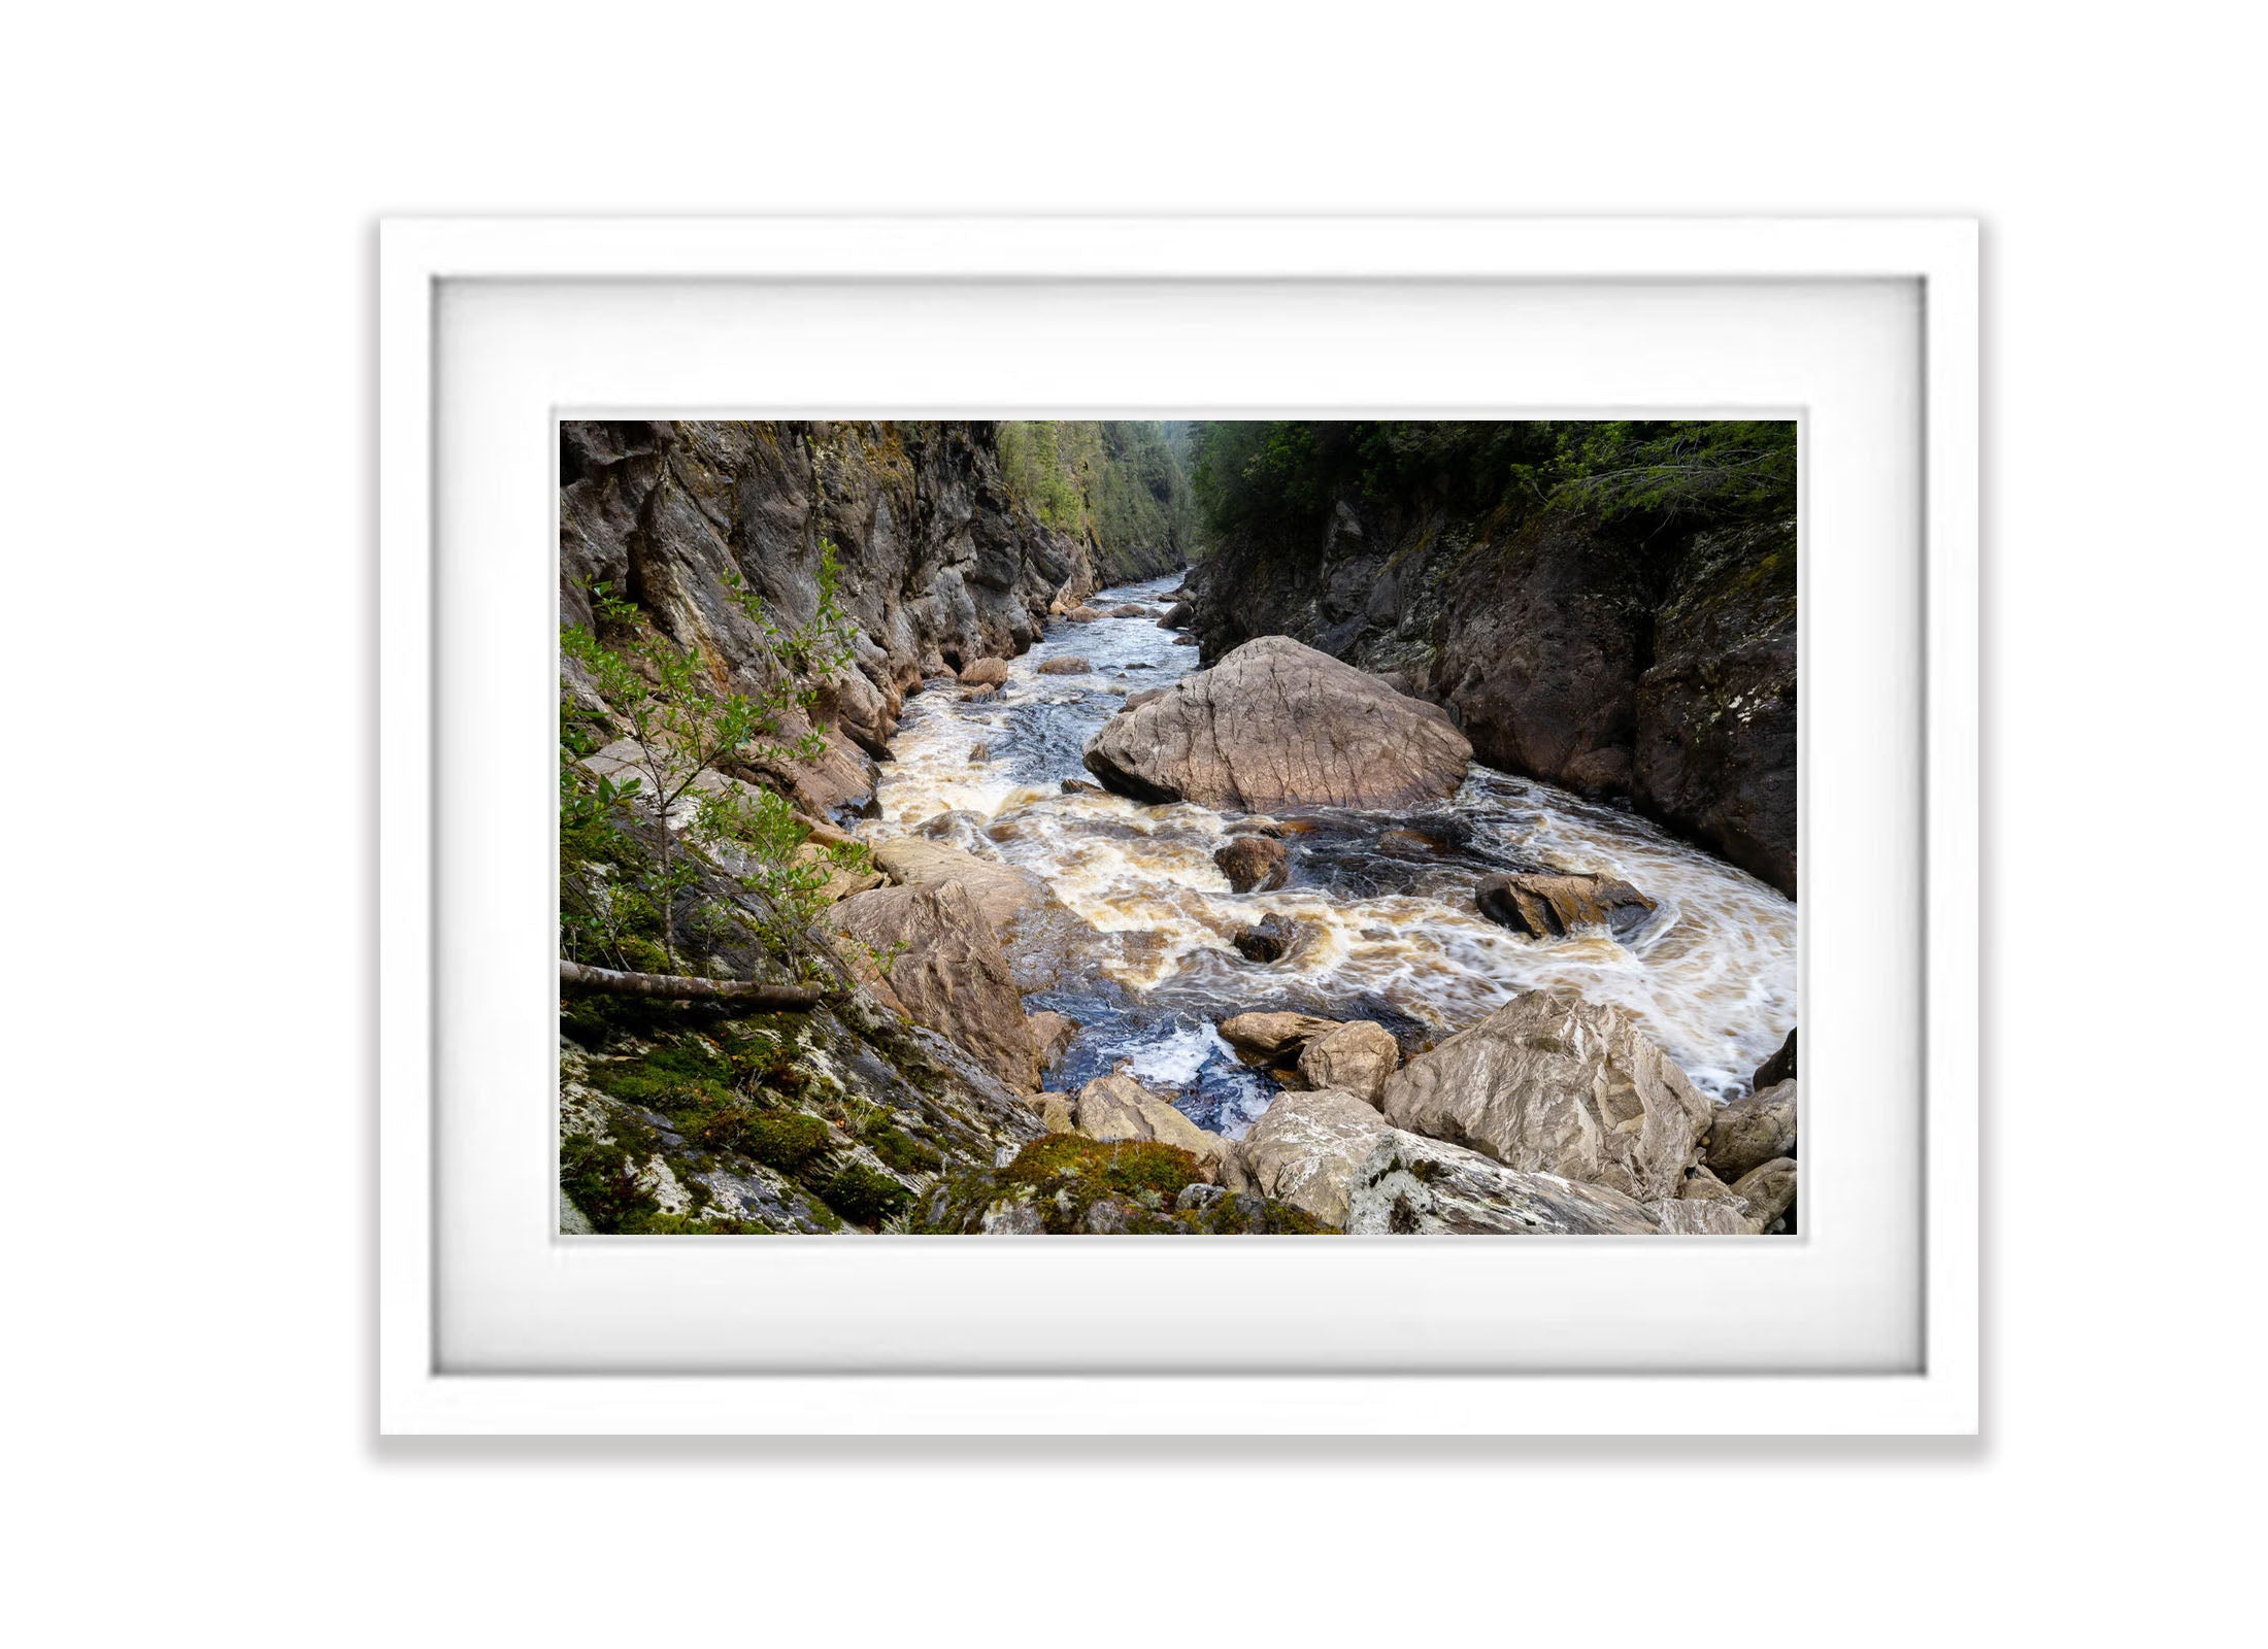
[[[1107,565],[1154,547],[1186,560],[1195,549],[1195,499],[1166,424],[1002,422],[1000,474],[1048,526],[1091,538]]]

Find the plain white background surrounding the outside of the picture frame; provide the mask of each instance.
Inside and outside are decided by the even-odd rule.
[[[2257,1556],[2261,1465],[2254,27],[14,18],[11,1635],[2202,1631]],[[374,1440],[372,220],[755,209],[1984,218],[1980,1443]]]

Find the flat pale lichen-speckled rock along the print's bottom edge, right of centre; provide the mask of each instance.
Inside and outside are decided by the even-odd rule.
[[[1345,1229],[1349,1236],[1651,1236],[1660,1227],[1619,1191],[1522,1173],[1463,1145],[1388,1130],[1347,1179]]]

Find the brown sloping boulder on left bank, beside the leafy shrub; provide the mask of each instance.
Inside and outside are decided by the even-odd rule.
[[[889,991],[916,1025],[941,1032],[1012,1089],[1039,1091],[1016,975],[966,887],[878,887],[830,905],[828,921],[889,959]]]

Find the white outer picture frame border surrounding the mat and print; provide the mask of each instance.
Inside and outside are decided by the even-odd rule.
[[[379,250],[379,440],[381,440],[381,1179],[379,1179],[379,1418],[388,1434],[1964,1434],[1978,1424],[1978,243],[1969,220],[392,220]],[[1474,1372],[1472,1359],[1436,1370],[1381,1372],[1361,1359],[1245,1359],[1236,1368],[1105,1368],[1061,1363],[919,1365],[898,1352],[860,1359],[857,1338],[832,1341],[826,1365],[787,1363],[764,1372],[705,1363],[678,1352],[660,1365],[601,1356],[585,1368],[558,1356],[515,1365],[510,1356],[447,1356],[451,1331],[445,1282],[469,1245],[445,1232],[445,1132],[435,1127],[442,1050],[438,1005],[447,989],[435,966],[442,925],[463,896],[440,876],[435,828],[449,767],[435,717],[442,628],[456,612],[435,576],[445,540],[438,488],[451,417],[440,408],[442,315],[451,293],[506,284],[608,288],[628,304],[671,304],[671,293],[726,288],[828,293],[887,286],[934,290],[1735,290],[1796,286],[1833,290],[1887,286],[1914,299],[1912,476],[1919,526],[1914,592],[1921,796],[1910,839],[1882,876],[1914,891],[1914,946],[1921,964],[1912,1050],[1919,1107],[1914,1150],[1919,1202],[1910,1282],[1914,1300],[1903,1343],[1910,1365],[1848,1368],[1789,1356],[1742,1363],[1726,1354],[1681,1363],[1660,1345],[1640,1347],[1613,1368],[1524,1368]],[[685,302],[696,315],[699,304]],[[1091,338],[1114,324],[1107,304],[1080,322]],[[907,327],[921,324],[919,318]],[[909,336],[919,336],[909,333]],[[905,352],[900,345],[900,354]],[[540,356],[538,356],[540,365]],[[903,372],[903,367],[898,367]],[[1699,358],[1690,383],[1708,381]],[[796,392],[762,383],[737,392],[708,388],[701,408],[812,413],[857,404],[869,415],[939,408],[937,383],[891,390],[887,374],[857,379],[826,397],[805,379]],[[601,374],[603,379],[603,374]],[[585,379],[576,413],[621,408],[644,415],[651,397],[592,392]],[[719,379],[721,381],[721,379]],[[1134,381],[1134,379],[1125,379]],[[993,390],[984,411],[1070,413],[1084,399],[1075,374],[1032,379],[1030,399],[1009,406]],[[1379,406],[1379,386],[1327,395],[1286,390],[1254,399],[1361,411]],[[1125,408],[1116,390],[1114,408]],[[830,401],[832,408],[821,404]],[[1218,406],[1218,390],[1211,406]],[[1395,397],[1397,404],[1406,404]],[[1424,399],[1424,397],[1420,397]],[[1520,397],[1510,397],[1520,399]],[[1565,399],[1565,397],[1563,397]],[[1687,392],[1692,404],[1694,392]],[[1699,399],[1721,399],[1699,395]],[[683,401],[678,401],[683,406]],[[678,408],[674,406],[674,411]],[[1159,408],[1159,411],[1211,411]],[[1901,401],[1903,406],[1903,401]],[[551,411],[560,411],[553,401]],[[975,408],[968,408],[975,411]],[[1254,408],[1259,411],[1259,408]],[[463,420],[456,420],[463,422]],[[519,431],[519,440],[542,431]],[[501,485],[501,481],[499,481]],[[533,499],[531,504],[547,504]],[[1808,499],[1810,510],[1810,499]],[[501,519],[501,517],[499,517]],[[517,526],[508,526],[517,538]],[[533,553],[538,547],[524,547]],[[1812,542],[1805,542],[1810,578]],[[515,551],[517,553],[517,551]],[[544,551],[549,553],[549,551]],[[1810,624],[1810,585],[1805,615]],[[438,606],[440,603],[440,606]],[[1817,637],[1805,635],[1805,669]],[[454,676],[465,692],[488,692]],[[469,680],[469,685],[465,685]],[[544,685],[544,683],[538,683]],[[1810,694],[1810,676],[1805,678]],[[1817,708],[1805,760],[1817,735]],[[1810,778],[1808,778],[1810,783]],[[1810,794],[1810,792],[1808,792]],[[1805,864],[1819,844],[1805,835]],[[1910,860],[1910,862],[1907,862]],[[1805,912],[1810,919],[1810,912]],[[1810,930],[1805,946],[1810,946]],[[1805,1034],[1808,1071],[1814,1057]],[[1819,1098],[1805,1089],[1812,1127]],[[524,1136],[526,1116],[515,1127]],[[1810,1143],[1810,1132],[1805,1132]],[[449,1168],[463,1184],[467,1166]],[[1810,1227],[1812,1157],[1805,1155]],[[519,1238],[515,1238],[519,1241]],[[699,1250],[712,1243],[646,1243],[642,1266],[683,1270],[683,1284],[646,1270],[631,1282],[649,1295],[701,1286]],[[796,1238],[782,1238],[794,1243]],[[814,1238],[816,1241],[816,1238]],[[1068,1241],[1068,1238],[1066,1238]],[[1438,1238],[1467,1243],[1476,1238]],[[528,1263],[551,1266],[553,1250],[522,1241]],[[762,1245],[742,1245],[742,1252]],[[894,1245],[837,1245],[891,1250]],[[984,1248],[984,1245],[978,1245]],[[1143,1243],[1107,1245],[1111,1266],[1141,1268]],[[1501,1245],[1497,1245],[1501,1248]],[[1662,1263],[1687,1263],[1669,1257]],[[687,1259],[667,1259],[667,1252]],[[782,1250],[785,1252],[785,1250]],[[798,1252],[812,1252],[803,1248]],[[873,1261],[919,1270],[916,1243],[903,1259]],[[966,1252],[966,1245],[964,1245]],[[993,1250],[996,1252],[996,1250]],[[1061,1245],[1057,1245],[1061,1252]],[[1438,1252],[1438,1250],[1436,1250]],[[1565,1245],[1538,1248],[1529,1263],[1551,1268]],[[1685,1250],[1692,1252],[1692,1250]],[[1742,1250],[1758,1254],[1755,1248]],[[1710,1263],[1753,1270],[1760,1259],[1724,1250]],[[803,1263],[803,1261],[796,1261]],[[832,1263],[832,1261],[830,1261]],[[864,1263],[864,1261],[862,1261]],[[1093,1261],[1073,1261],[1093,1263]],[[1429,1261],[1431,1263],[1431,1261]],[[1465,1261],[1440,1261],[1465,1263]],[[1585,1261],[1588,1263],[1588,1261]],[[1880,1272],[1892,1275],[1892,1272]],[[1898,1272],[1907,1275],[1907,1272]],[[533,1295],[522,1284],[474,1295],[490,1304]],[[826,1282],[826,1279],[819,1279]],[[839,1282],[839,1279],[835,1279]],[[1769,1277],[1767,1277],[1769,1282]],[[1134,1282],[1127,1282],[1132,1288]],[[1590,1286],[1590,1284],[1585,1284]],[[1740,1286],[1719,1275],[1710,1286]],[[826,1295],[828,1288],[814,1288]],[[823,1306],[814,1306],[823,1309]],[[460,1313],[458,1313],[460,1316]],[[535,1347],[540,1336],[526,1338]],[[510,1341],[506,1341],[510,1343]],[[687,1341],[685,1345],[692,1345]],[[558,1347],[551,1347],[558,1352]],[[569,1347],[572,1350],[572,1347]],[[619,1341],[617,1341],[619,1350]],[[531,1352],[533,1356],[533,1352]],[[1833,1372],[1830,1372],[1833,1370]]]

